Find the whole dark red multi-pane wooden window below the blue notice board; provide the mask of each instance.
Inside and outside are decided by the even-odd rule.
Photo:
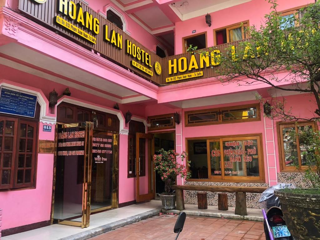
[[[0,189],[35,184],[38,123],[0,116]]]

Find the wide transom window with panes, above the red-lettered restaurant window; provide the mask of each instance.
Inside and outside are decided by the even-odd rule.
[[[260,120],[259,104],[185,112],[185,125],[201,126]]]

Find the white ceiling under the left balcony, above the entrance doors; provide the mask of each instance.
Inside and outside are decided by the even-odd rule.
[[[68,65],[64,62],[60,62],[58,60],[52,59],[48,56],[45,56],[43,54],[40,54],[38,52],[35,52],[31,49],[28,49],[24,46],[21,46],[21,45],[15,44],[15,43],[10,43],[7,45],[0,46],[0,53],[11,56],[16,59],[20,59],[24,62],[30,63],[30,64],[35,65],[37,67],[55,72],[61,76],[67,77],[69,79],[74,79],[80,83],[90,85],[90,86],[95,87],[97,89],[101,89],[104,92],[111,93],[111,94],[117,95],[119,97],[137,95],[136,92],[134,92],[130,89],[127,89],[127,88],[122,87],[120,85],[114,84],[112,82],[109,82],[106,79],[99,78],[95,75],[92,75],[92,74],[86,72],[86,71],[75,68],[75,67]],[[35,69],[30,68],[28,66],[25,66],[23,64],[9,61],[5,58],[1,58],[0,64],[10,66],[10,67],[16,68],[18,70],[26,71],[28,73],[37,75],[39,77],[43,77],[43,78],[46,78],[46,79],[49,79],[52,81],[56,81],[61,84],[68,85],[70,87],[72,85],[72,87],[75,87],[79,90],[91,92],[93,94],[97,94],[99,96],[108,98],[110,100],[115,100],[115,101],[119,100],[119,98],[116,98],[114,96],[110,96],[105,93],[96,91],[94,89],[84,87],[83,85],[70,82],[67,79],[62,79],[62,78],[59,78],[56,76],[52,76],[50,74],[44,73],[39,70],[35,70]],[[144,98],[146,98],[146,97],[144,97]],[[149,99],[149,98],[146,98],[146,99]],[[140,99],[140,101],[141,100],[142,99]]]

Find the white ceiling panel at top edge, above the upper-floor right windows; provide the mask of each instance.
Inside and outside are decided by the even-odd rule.
[[[181,0],[169,6],[183,21],[250,1],[252,0]],[[182,6],[179,7],[180,5]]]

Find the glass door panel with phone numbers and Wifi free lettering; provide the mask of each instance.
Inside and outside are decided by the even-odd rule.
[[[91,212],[117,207],[117,134],[94,130],[92,137]]]

